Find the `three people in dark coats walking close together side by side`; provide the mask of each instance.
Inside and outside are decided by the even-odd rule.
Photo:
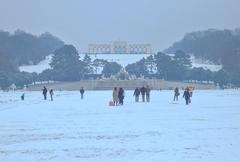
[[[135,102],[139,102],[140,94],[142,96],[142,102],[145,102],[145,98],[147,102],[150,102],[150,92],[151,92],[151,89],[148,85],[146,87],[143,86],[141,88],[137,87],[133,93],[133,96],[135,96]]]

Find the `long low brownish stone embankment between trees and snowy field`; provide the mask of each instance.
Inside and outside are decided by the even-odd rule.
[[[170,82],[158,79],[139,79],[139,80],[83,80],[79,82],[61,82],[51,84],[38,84],[28,87],[30,91],[41,90],[43,86],[54,90],[79,90],[84,87],[86,90],[112,90],[114,87],[122,87],[126,90],[133,90],[136,87],[149,85],[152,89],[174,89],[175,87],[185,88],[187,86],[195,87],[196,89],[216,89],[212,84],[194,84],[185,82]]]

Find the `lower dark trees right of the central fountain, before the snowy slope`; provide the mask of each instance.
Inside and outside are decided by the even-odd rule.
[[[192,68],[190,56],[180,50],[176,51],[173,56],[159,52],[129,64],[125,69],[129,74],[137,77],[154,77],[169,81],[214,82],[222,88],[233,83],[229,78],[229,73],[224,69],[212,72],[204,68]],[[240,86],[239,81],[235,84],[236,86]]]

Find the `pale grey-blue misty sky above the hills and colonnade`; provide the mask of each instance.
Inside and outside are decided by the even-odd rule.
[[[80,52],[126,40],[169,47],[185,33],[240,27],[240,0],[0,0],[0,29],[50,32]]]

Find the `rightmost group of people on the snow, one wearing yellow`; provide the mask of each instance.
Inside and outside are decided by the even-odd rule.
[[[187,87],[183,92],[183,98],[185,98],[186,105],[191,103],[191,98],[193,94],[193,87]],[[178,101],[178,96],[180,96],[180,92],[178,87],[174,89],[174,98],[173,101]]]

